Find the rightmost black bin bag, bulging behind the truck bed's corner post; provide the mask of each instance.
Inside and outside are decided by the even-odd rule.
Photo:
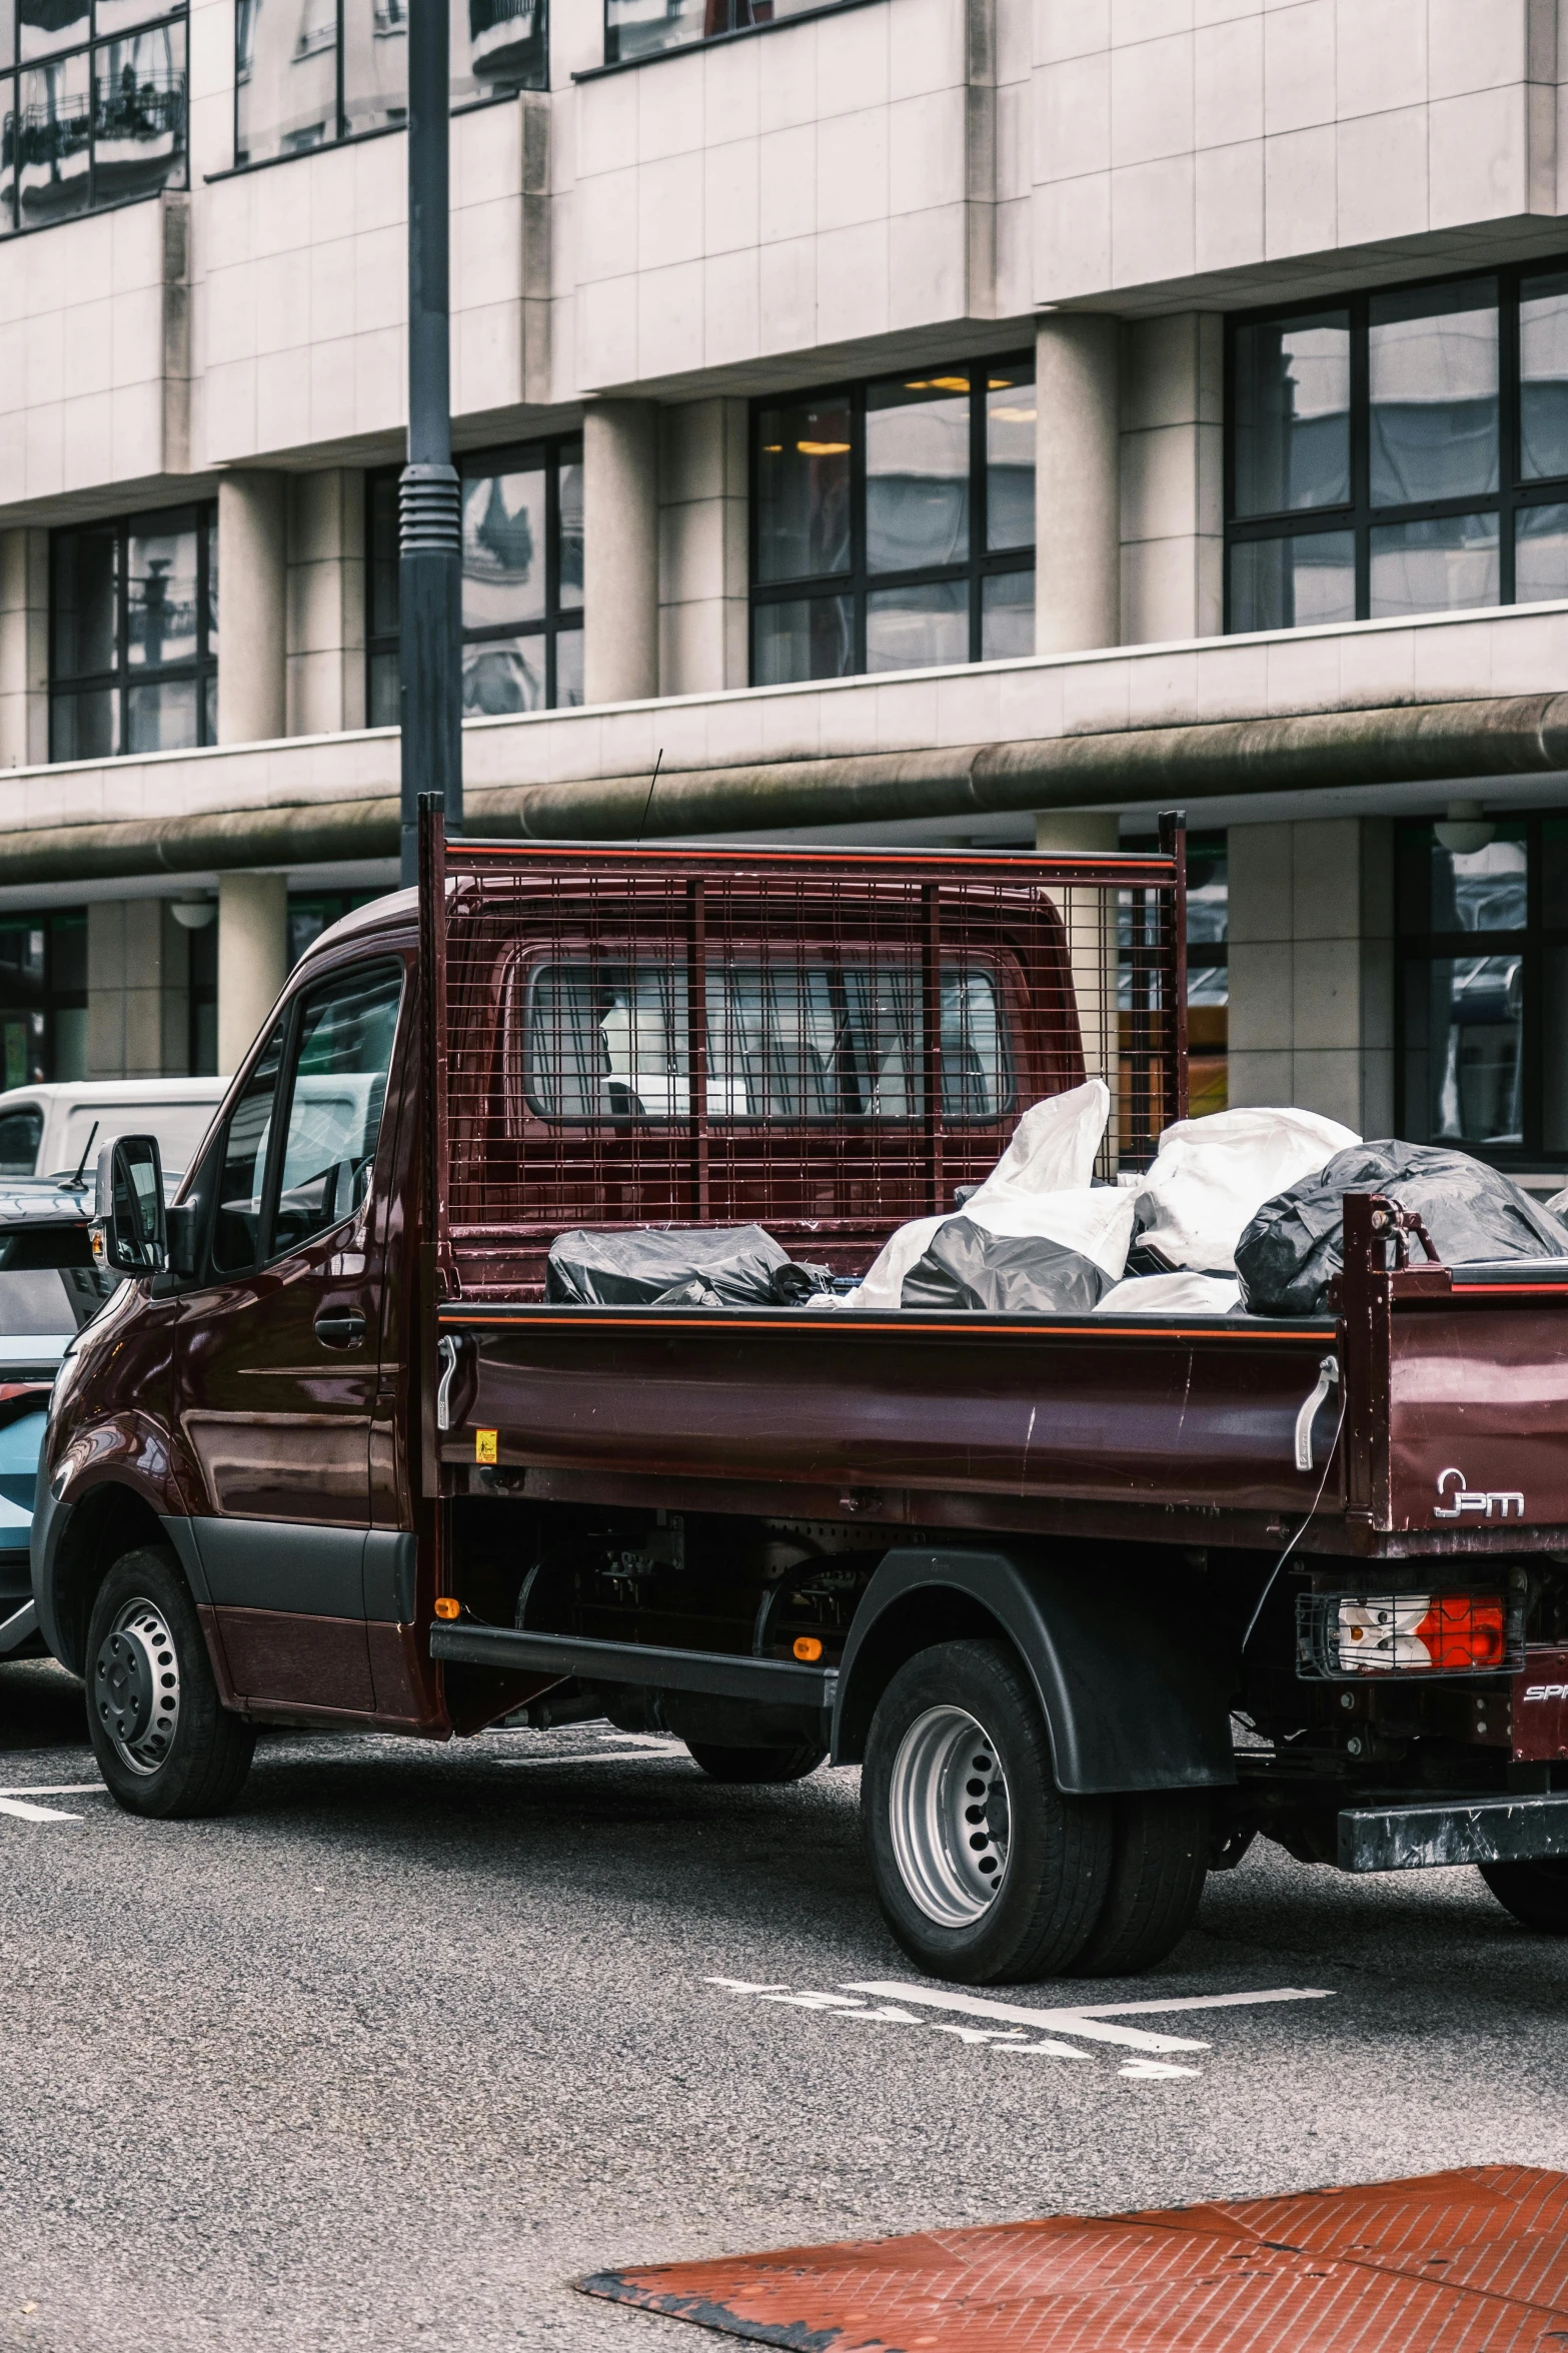
[[[1345,1193],[1387,1193],[1415,1209],[1443,1266],[1568,1252],[1568,1226],[1483,1160],[1441,1144],[1354,1144],[1265,1200],[1241,1233],[1237,1273],[1248,1315],[1324,1313],[1345,1266]],[[1410,1252],[1425,1257],[1415,1235]]]

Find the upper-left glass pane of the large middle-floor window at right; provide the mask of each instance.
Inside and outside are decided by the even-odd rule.
[[[1349,499],[1349,315],[1237,329],[1237,513]]]

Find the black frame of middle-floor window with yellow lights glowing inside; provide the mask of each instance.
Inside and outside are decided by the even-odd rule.
[[[748,682],[755,687],[757,678],[757,616],[769,605],[799,605],[811,598],[823,595],[846,595],[851,600],[851,633],[853,633],[853,668],[844,678],[898,678],[898,671],[867,671],[865,666],[865,614],[867,598],[884,588],[936,588],[945,581],[969,584],[969,664],[978,664],[980,654],[980,631],[983,631],[983,598],[985,579],[997,579],[1004,574],[1039,569],[1039,544],[1030,541],[1018,548],[987,548],[987,508],[990,508],[990,466],[985,456],[985,393],[987,386],[980,381],[992,367],[1023,367],[1030,369],[1030,384],[1034,384],[1034,353],[1032,351],[994,351],[971,360],[931,360],[924,372],[950,369],[952,374],[969,376],[969,555],[952,565],[914,565],[907,572],[870,572],[865,562],[865,395],[872,384],[896,384],[907,381],[919,369],[907,367],[898,374],[860,376],[853,381],[837,384],[813,384],[762,393],[750,402],[748,416]],[[816,572],[802,579],[764,581],[762,579],[762,416],[766,409],[778,409],[785,405],[806,405],[809,400],[846,400],[849,402],[849,569],[846,572]],[[809,680],[811,685],[825,685],[827,680]]]

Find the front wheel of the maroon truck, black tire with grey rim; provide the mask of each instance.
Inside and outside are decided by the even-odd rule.
[[[254,1725],[230,1715],[172,1551],[115,1560],[87,1621],[87,1729],[127,1814],[226,1814],[252,1769]]]

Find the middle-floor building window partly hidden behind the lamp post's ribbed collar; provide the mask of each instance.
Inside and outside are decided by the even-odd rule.
[[[583,445],[524,442],[461,456],[463,718],[583,701]],[[395,727],[397,473],[367,482],[367,708]]]

